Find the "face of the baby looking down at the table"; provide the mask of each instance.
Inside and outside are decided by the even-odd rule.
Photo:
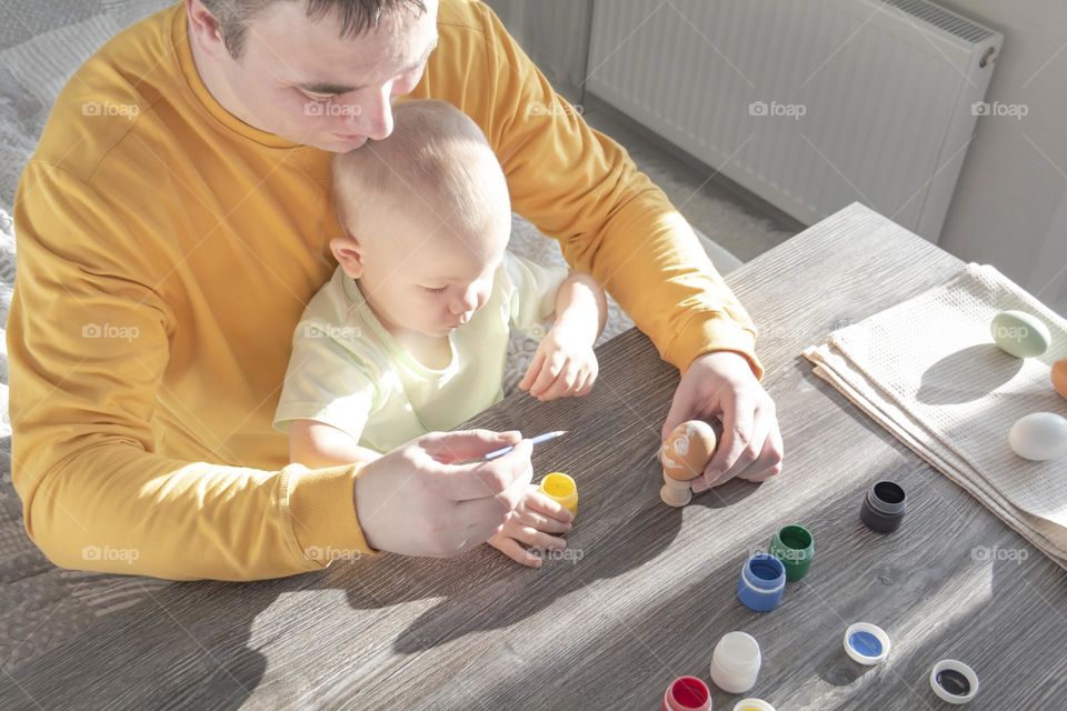
[[[477,231],[395,216],[360,240],[360,291],[387,327],[445,337],[486,304],[510,216]]]

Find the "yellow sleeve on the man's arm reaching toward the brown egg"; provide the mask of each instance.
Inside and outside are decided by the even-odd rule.
[[[483,9],[491,126],[512,207],[559,241],[685,371],[710,351],[746,357],[757,377],[756,328],[667,196],[615,141],[589,128],[549,86],[499,19]]]

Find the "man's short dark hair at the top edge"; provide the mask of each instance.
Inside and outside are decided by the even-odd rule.
[[[378,27],[383,14],[400,9],[426,12],[422,0],[201,0],[219,21],[222,41],[233,59],[240,59],[248,38],[248,22],[276,2],[303,2],[312,22],[332,14],[340,21],[341,37],[359,37]]]

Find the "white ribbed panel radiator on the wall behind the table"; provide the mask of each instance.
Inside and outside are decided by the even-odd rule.
[[[805,224],[936,242],[1003,40],[927,0],[596,0],[587,88]]]

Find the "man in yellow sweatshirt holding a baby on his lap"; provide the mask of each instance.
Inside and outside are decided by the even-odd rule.
[[[185,0],[76,73],[16,198],[12,477],[52,561],[252,580],[352,551],[457,554],[498,530],[529,443],[456,462],[516,433],[309,470],[271,427],[293,326],[336,268],[330,158],[388,136],[406,96],[470,116],[515,210],[682,371],[665,431],[722,417],[696,488],[780,470],[750,319],[662,192],[485,6]]]

